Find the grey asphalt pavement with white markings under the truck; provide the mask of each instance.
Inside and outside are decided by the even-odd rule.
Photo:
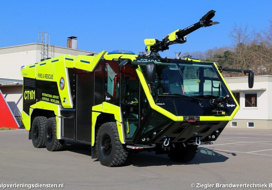
[[[272,130],[225,128],[188,163],[154,152],[129,154],[125,166],[91,159],[90,146],[34,148],[27,130],[0,131],[0,184],[64,184],[64,189],[193,189],[191,184],[272,183]],[[197,189],[196,187],[194,189]],[[200,189],[200,188],[198,188]]]

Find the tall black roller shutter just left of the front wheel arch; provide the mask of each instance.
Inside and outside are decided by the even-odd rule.
[[[77,74],[76,140],[91,143],[94,72]]]

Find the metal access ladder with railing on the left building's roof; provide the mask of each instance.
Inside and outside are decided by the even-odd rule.
[[[38,41],[42,44],[41,61],[49,59],[50,34],[38,32]]]

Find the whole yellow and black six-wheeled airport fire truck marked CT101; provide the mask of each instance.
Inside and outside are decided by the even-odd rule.
[[[200,21],[162,40],[145,39],[146,50],[62,55],[21,67],[22,119],[36,148],[59,151],[65,140],[91,145],[91,157],[120,166],[130,152],[155,151],[188,162],[201,144],[216,140],[239,109],[222,68],[192,56],[162,58],[171,44],[207,26]]]

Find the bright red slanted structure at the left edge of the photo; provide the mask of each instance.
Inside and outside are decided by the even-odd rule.
[[[0,127],[11,127],[19,129],[19,124],[17,123],[14,115],[7,104],[5,97],[0,90]]]

